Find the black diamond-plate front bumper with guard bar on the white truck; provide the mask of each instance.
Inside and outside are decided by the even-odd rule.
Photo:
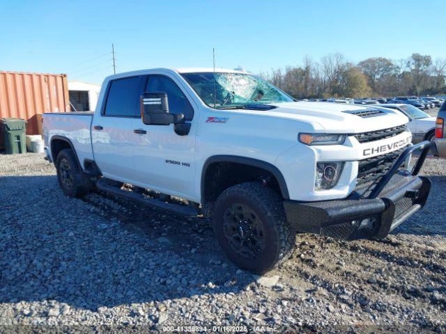
[[[404,150],[389,173],[385,175],[367,198],[297,202],[286,200],[286,218],[299,232],[309,232],[337,239],[386,237],[394,228],[426,203],[431,182],[417,176],[430,143],[411,146]],[[410,173],[398,172],[399,167],[414,151],[422,150]]]

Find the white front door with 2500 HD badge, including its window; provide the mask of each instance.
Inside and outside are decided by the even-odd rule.
[[[183,113],[192,122],[189,134],[179,136],[174,125],[144,125],[134,120],[139,132],[134,141],[134,177],[147,188],[192,198],[194,193],[195,129],[194,109],[175,78],[154,74],[146,77],[145,92],[165,92],[170,113]]]

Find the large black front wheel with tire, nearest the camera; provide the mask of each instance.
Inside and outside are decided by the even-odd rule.
[[[254,273],[277,267],[295,245],[295,231],[286,221],[282,198],[254,182],[223,191],[215,202],[213,229],[229,259]]]

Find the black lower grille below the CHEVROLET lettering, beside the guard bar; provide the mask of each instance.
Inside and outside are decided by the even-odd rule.
[[[358,192],[360,190],[364,191],[364,189],[365,191],[371,191],[371,187],[375,186],[387,174],[405,149],[401,148],[378,157],[358,161],[355,190]]]

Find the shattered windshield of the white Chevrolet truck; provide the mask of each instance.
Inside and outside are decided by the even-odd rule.
[[[203,72],[183,73],[182,76],[201,100],[215,109],[293,101],[289,95],[251,74]]]

